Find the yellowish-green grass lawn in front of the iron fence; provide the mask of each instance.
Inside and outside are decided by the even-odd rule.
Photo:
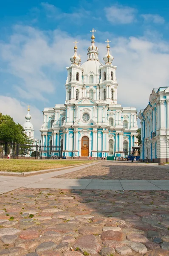
[[[0,159],[0,172],[32,172],[59,167],[76,166],[83,163],[93,163],[91,160],[25,160]]]

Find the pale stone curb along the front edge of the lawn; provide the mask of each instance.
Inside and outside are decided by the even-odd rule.
[[[96,163],[100,163],[100,162],[96,162]],[[74,167],[78,167],[78,166],[94,165],[96,163],[83,163],[83,164],[74,165],[74,166],[60,167],[60,168],[47,169],[47,170],[39,170],[39,171],[33,171],[33,172],[0,172],[0,175],[3,175],[3,176],[27,177],[27,176],[43,174],[43,173],[48,173],[48,172],[61,171],[61,170],[70,169],[70,168],[74,168]]]

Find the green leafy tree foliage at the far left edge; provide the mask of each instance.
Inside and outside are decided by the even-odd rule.
[[[22,125],[16,124],[11,116],[3,115],[2,113],[0,113],[0,140],[3,140],[5,143],[31,143]]]

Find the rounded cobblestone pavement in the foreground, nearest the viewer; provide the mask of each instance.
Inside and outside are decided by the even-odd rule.
[[[23,255],[169,256],[169,192],[20,188],[0,195],[0,256]]]

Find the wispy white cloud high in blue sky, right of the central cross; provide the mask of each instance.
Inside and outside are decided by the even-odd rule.
[[[129,6],[113,5],[105,8],[107,20],[112,24],[128,24],[135,21],[136,9]]]

